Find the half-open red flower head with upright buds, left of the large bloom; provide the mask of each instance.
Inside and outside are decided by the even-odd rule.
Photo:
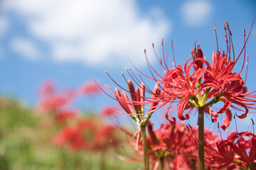
[[[128,69],[127,72],[129,72]],[[110,79],[112,78],[110,77]],[[146,125],[152,113],[154,113],[154,111],[156,110],[160,101],[159,96],[161,94],[161,89],[159,83],[156,82],[153,91],[151,91],[147,86],[145,86],[143,81],[141,83],[135,81],[138,85],[136,89],[130,79],[125,79],[125,81],[127,82],[128,89],[124,89],[122,86],[119,86],[119,84],[114,81],[122,89],[122,91],[119,91],[118,88],[115,88],[114,91],[110,89],[110,91],[112,91],[112,94],[114,94],[114,97],[110,96],[110,94],[107,94],[104,90],[102,91],[104,91],[114,100],[118,101],[119,105],[126,112],[124,114],[130,115],[131,118],[134,119],[138,124]],[[146,93],[151,94],[151,97],[146,96]],[[148,108],[149,111],[145,111],[145,108]],[[120,113],[119,111],[114,112]]]

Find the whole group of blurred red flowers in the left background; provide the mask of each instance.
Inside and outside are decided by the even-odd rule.
[[[97,85],[85,83],[83,94],[93,94],[99,89]],[[58,132],[55,135],[55,145],[65,146],[72,150],[105,151],[110,146],[117,145],[117,129],[111,125],[102,123],[102,119],[93,115],[92,118],[84,118],[77,111],[70,109],[81,89],[64,91],[56,90],[51,81],[46,81],[40,90],[41,101],[39,109],[43,113],[49,113],[47,122]],[[85,92],[86,91],[86,92]]]

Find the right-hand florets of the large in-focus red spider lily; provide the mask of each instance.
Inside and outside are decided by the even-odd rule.
[[[226,25],[224,23],[225,30],[227,31]],[[228,26],[228,23],[227,23]],[[251,28],[252,30],[252,28]],[[250,32],[251,32],[250,30]],[[227,32],[226,32],[227,33]],[[244,30],[245,34],[245,30]],[[238,57],[235,59],[235,54],[233,52],[233,60],[231,59],[231,52],[230,49],[233,48],[232,38],[231,38],[231,31],[228,26],[228,35],[225,35],[226,44],[227,44],[227,52],[225,54],[225,51],[223,51],[223,54],[221,54],[220,51],[213,52],[213,62],[212,66],[205,61],[206,63],[206,73],[204,75],[204,81],[202,86],[204,88],[208,88],[209,94],[208,98],[217,97],[218,100],[223,101],[225,104],[223,108],[220,108],[218,113],[226,113],[227,116],[225,118],[226,125],[223,125],[223,129],[227,128],[230,124],[230,121],[232,119],[232,113],[230,111],[230,106],[232,108],[237,109],[238,111],[241,111],[240,108],[237,106],[240,106],[242,108],[245,108],[245,113],[242,115],[238,115],[239,118],[245,118],[247,116],[247,113],[249,112],[249,108],[255,109],[255,103],[256,103],[256,95],[253,95],[255,91],[252,91],[251,93],[247,93],[247,87],[245,86],[245,81],[242,80],[242,77],[240,73],[242,72],[242,69],[245,65],[245,55],[243,59],[242,68],[239,73],[232,72],[233,67],[235,66],[236,62],[238,62],[238,59],[242,55],[242,51],[245,50],[246,42],[249,38],[249,35],[247,39],[245,40],[244,47],[242,47],[242,51],[238,55]],[[230,42],[232,43],[231,47],[228,45],[228,39],[229,37]],[[210,90],[211,89],[211,90]],[[235,106],[236,105],[236,106]]]

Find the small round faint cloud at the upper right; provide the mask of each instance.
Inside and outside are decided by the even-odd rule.
[[[188,26],[201,26],[206,23],[213,12],[213,7],[209,1],[197,0],[186,1],[181,6],[183,21]]]

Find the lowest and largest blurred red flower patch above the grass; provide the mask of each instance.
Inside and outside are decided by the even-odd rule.
[[[117,145],[117,130],[111,125],[97,125],[91,119],[80,120],[73,126],[64,128],[55,137],[55,144],[67,146],[70,149],[87,151],[105,150],[111,145]]]

